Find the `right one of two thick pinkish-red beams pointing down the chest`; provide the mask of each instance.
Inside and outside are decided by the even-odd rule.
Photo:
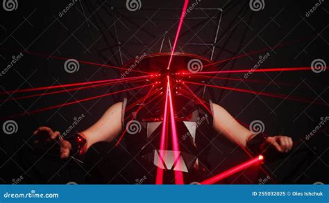
[[[175,160],[178,159],[177,165],[178,165],[178,170],[175,170],[175,184],[184,184],[184,179],[183,179],[183,173],[180,170],[180,150],[179,150],[179,143],[178,143],[178,136],[177,136],[177,129],[176,129],[176,122],[175,122],[175,112],[174,112],[174,104],[173,104],[173,99],[171,96],[171,86],[170,86],[170,81],[169,81],[169,76],[167,76],[167,82],[168,82],[168,94],[169,94],[169,112],[170,112],[170,123],[171,123],[171,141],[173,145],[173,150],[174,150],[174,157]]]

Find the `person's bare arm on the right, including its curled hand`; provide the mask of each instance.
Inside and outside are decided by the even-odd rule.
[[[226,136],[230,141],[238,142],[240,145],[246,147],[249,142],[258,136],[239,124],[223,107],[212,104],[212,108],[214,110],[214,130]],[[263,150],[267,147],[273,147],[279,152],[289,152],[292,149],[292,145],[292,138],[278,135],[264,138],[259,148]]]

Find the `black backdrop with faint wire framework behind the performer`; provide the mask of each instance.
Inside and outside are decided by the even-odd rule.
[[[67,73],[65,60],[40,57],[33,53],[74,58],[100,64],[121,66],[142,53],[170,51],[180,15],[180,1],[141,1],[140,10],[130,11],[125,1],[74,1],[63,15],[59,15],[71,1],[18,1],[13,11],[1,8],[1,69],[10,64],[12,55],[24,53],[5,75],[1,76],[1,91],[60,85],[119,78],[112,69],[81,64],[76,73]],[[221,64],[219,68],[251,69],[260,55],[270,54],[262,64],[271,67],[310,67],[312,61],[322,59],[328,63],[328,6],[324,1],[319,8],[306,16],[318,1],[265,1],[265,7],[253,11],[249,1],[198,1],[183,24],[182,37],[177,50],[195,53],[213,60],[230,58],[262,48],[265,53],[246,55],[244,58]],[[190,4],[194,1],[190,2]],[[220,10],[221,9],[221,10]],[[190,18],[190,19],[189,19]],[[214,45],[217,27],[219,33]],[[298,41],[298,42],[296,42]],[[275,48],[278,44],[288,45]],[[243,78],[242,74],[223,75]],[[269,91],[291,96],[312,98],[311,103],[298,103],[287,99],[255,96],[234,91],[212,90],[212,100],[225,107],[239,121],[251,123],[260,120],[267,134],[287,134],[298,141],[296,148],[310,150],[313,155],[309,166],[303,170],[303,183],[328,183],[328,125],[321,127],[317,135],[305,140],[321,117],[328,116],[328,71],[254,73],[250,79],[265,80],[267,84],[212,80],[212,85],[226,85],[256,91]],[[281,85],[289,83],[291,85]],[[81,98],[127,88],[101,87],[92,91],[74,91],[60,96],[40,96],[29,100],[9,100],[11,94],[1,96],[1,116],[28,112],[33,109],[67,103]],[[62,107],[59,109],[13,118],[18,125],[15,134],[1,131],[1,173],[3,184],[25,177],[26,182],[67,183],[83,182],[86,171],[76,161],[59,161],[48,157],[44,151],[31,145],[31,134],[36,127],[47,125],[63,131],[74,117],[86,118],[75,130],[84,130],[122,96],[112,96]],[[321,102],[324,105],[314,103]],[[1,120],[1,125],[6,120]],[[247,159],[244,152],[225,140],[216,139],[212,145],[210,162],[213,173],[223,171]],[[28,154],[26,152],[31,152]],[[24,155],[24,156],[23,156]],[[30,157],[33,164],[26,166]],[[287,164],[286,164],[287,163]],[[280,163],[266,166],[269,173],[280,180],[289,171],[294,159],[282,159]],[[35,172],[37,171],[37,172]],[[42,179],[33,179],[33,175]],[[33,175],[31,175],[33,174]],[[32,177],[31,177],[32,176]],[[239,177],[239,178],[237,178]],[[140,177],[136,177],[140,178]],[[241,173],[228,183],[250,183],[248,175]],[[291,182],[298,183],[301,177]],[[284,182],[284,181],[283,181]]]

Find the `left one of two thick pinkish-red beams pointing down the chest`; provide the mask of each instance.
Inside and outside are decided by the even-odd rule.
[[[166,98],[165,98],[165,108],[163,112],[163,121],[162,121],[162,130],[161,130],[161,139],[160,139],[160,147],[159,147],[159,157],[163,156],[164,150],[166,150],[166,143],[167,143],[167,126],[168,126],[168,98],[169,98],[169,91],[168,85],[166,90]],[[160,159],[158,161],[158,166],[160,166]],[[165,160],[164,160],[165,161]],[[156,172],[155,184],[162,184],[163,183],[163,169],[158,167]]]

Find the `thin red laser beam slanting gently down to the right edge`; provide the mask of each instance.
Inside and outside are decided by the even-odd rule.
[[[269,97],[272,97],[272,98],[282,98],[282,99],[287,99],[287,100],[296,100],[296,101],[303,102],[303,103],[314,103],[314,104],[318,104],[318,105],[326,105],[325,103],[314,102],[313,100],[293,97],[293,96],[284,95],[284,94],[272,94],[272,93],[264,92],[264,91],[253,91],[253,90],[239,89],[239,88],[233,88],[233,87],[207,85],[207,84],[196,83],[196,82],[187,82],[187,81],[184,81],[184,82],[187,83],[187,84],[203,85],[203,86],[206,86],[206,87],[215,87],[215,88],[219,88],[219,89],[228,89],[228,90],[232,90],[232,91],[240,91],[240,92],[249,93],[249,94],[269,96]]]

